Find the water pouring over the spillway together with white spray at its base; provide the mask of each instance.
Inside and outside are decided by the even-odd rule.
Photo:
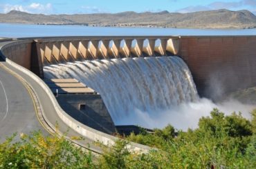
[[[77,79],[100,94],[115,125],[195,128],[213,108],[249,110],[240,103],[216,105],[200,99],[180,57],[135,57],[75,61],[44,66],[46,79]],[[235,107],[234,107],[235,106]],[[226,109],[226,108],[230,109]],[[240,108],[240,109],[239,109]]]

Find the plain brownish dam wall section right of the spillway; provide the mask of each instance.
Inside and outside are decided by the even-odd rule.
[[[181,37],[178,55],[188,64],[199,95],[218,99],[256,85],[256,37]]]

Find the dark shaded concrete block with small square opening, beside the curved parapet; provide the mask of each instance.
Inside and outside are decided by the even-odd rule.
[[[62,109],[86,126],[108,134],[116,132],[115,125],[100,95],[58,95]],[[83,108],[80,106],[83,105]]]

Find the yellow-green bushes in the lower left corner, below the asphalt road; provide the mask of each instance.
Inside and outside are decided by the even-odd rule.
[[[44,137],[41,132],[16,135],[0,144],[0,168],[93,168],[92,155],[64,137]]]

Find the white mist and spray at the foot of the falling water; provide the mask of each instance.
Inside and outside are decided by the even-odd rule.
[[[231,115],[232,112],[241,112],[246,119],[250,119],[250,112],[255,108],[253,105],[240,103],[235,99],[229,99],[221,103],[213,103],[210,99],[199,99],[194,103],[181,103],[169,110],[155,110],[152,112],[143,112],[135,109],[128,113],[127,117],[115,121],[116,125],[138,125],[144,128],[164,128],[171,124],[177,130],[186,131],[188,128],[197,128],[201,117],[210,116],[210,112],[217,108],[225,115]]]

